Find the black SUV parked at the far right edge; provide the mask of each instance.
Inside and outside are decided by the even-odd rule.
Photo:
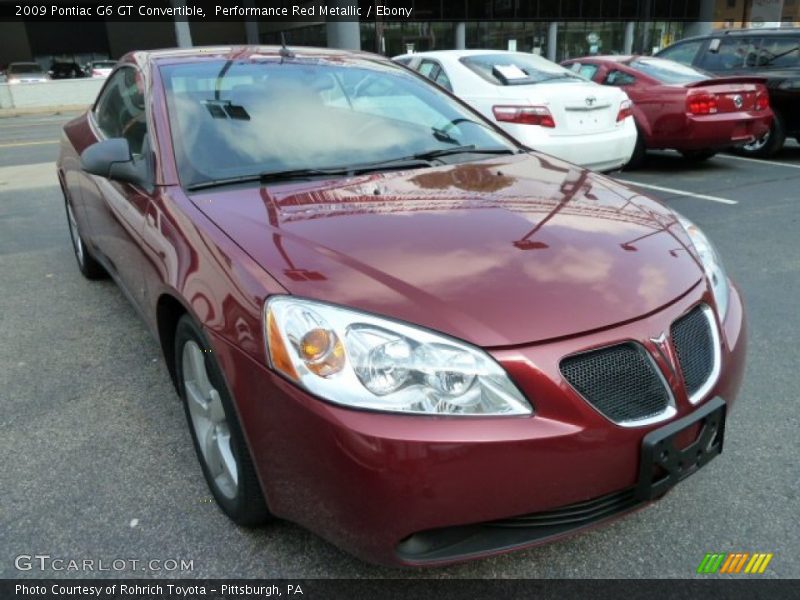
[[[800,29],[741,29],[682,40],[657,56],[720,76],[763,77],[775,113],[770,131],[737,151],[773,156],[786,137],[800,141]]]

